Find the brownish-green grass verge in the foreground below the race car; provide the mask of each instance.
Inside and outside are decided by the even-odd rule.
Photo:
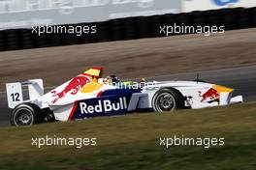
[[[31,138],[96,137],[96,146],[32,146]],[[224,146],[160,146],[160,137],[224,137]],[[256,103],[0,128],[0,169],[256,169]]]

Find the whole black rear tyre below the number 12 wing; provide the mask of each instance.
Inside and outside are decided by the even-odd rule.
[[[18,104],[11,115],[11,125],[16,127],[32,126],[43,122],[40,108],[32,103]]]

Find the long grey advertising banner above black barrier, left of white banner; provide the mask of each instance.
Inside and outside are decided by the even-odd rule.
[[[0,0],[0,30],[180,12],[180,0]]]

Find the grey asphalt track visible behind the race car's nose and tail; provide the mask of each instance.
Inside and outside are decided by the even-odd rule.
[[[210,83],[234,88],[234,96],[242,95],[244,101],[256,100],[256,66],[225,69],[217,71],[201,71],[178,74],[166,74],[154,77],[147,77],[147,80],[195,80],[199,78]],[[46,91],[51,89],[46,88]],[[10,126],[9,115],[12,112],[8,108],[6,93],[0,92],[0,127]]]

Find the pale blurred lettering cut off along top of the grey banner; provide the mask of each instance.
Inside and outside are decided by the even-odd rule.
[[[37,10],[59,10],[60,14],[72,14],[75,8],[102,7],[135,4],[138,8],[153,7],[155,0],[3,0],[0,13],[31,12]]]

